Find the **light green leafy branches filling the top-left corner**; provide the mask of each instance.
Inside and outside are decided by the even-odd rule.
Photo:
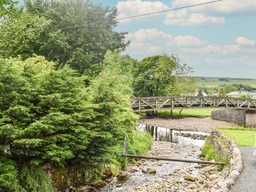
[[[16,8],[17,3],[12,0],[0,2],[0,55],[5,58],[24,50],[25,44],[34,41],[48,25],[44,18]]]

